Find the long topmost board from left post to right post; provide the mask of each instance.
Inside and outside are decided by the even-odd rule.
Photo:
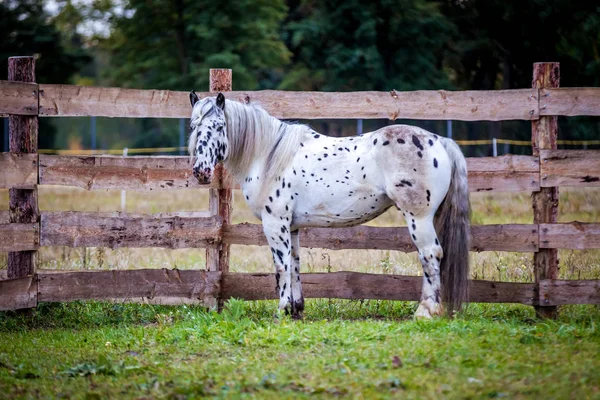
[[[226,98],[258,102],[280,119],[385,118],[531,120],[539,116],[538,91],[448,92],[228,92]],[[200,98],[209,93],[198,93]],[[214,93],[212,94],[214,95]],[[189,92],[40,85],[41,116],[189,118]]]

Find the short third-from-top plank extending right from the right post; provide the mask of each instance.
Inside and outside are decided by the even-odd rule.
[[[540,224],[540,248],[600,249],[600,224]]]

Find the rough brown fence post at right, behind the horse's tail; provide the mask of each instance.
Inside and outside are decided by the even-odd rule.
[[[539,108],[543,109],[544,99],[547,94],[545,88],[556,88],[560,86],[560,64],[559,63],[535,63],[533,64],[532,86],[539,90]],[[537,121],[531,121],[531,145],[533,155],[539,156],[540,150],[556,149],[558,137],[558,122],[555,116],[543,116]],[[558,216],[558,188],[543,187],[539,192],[532,195],[533,222],[535,224],[556,223]],[[539,305],[535,307],[538,316],[543,318],[556,318],[556,306],[545,306],[547,300],[540,297],[540,282],[543,279],[556,279],[558,277],[558,250],[539,249],[533,255],[533,268],[535,281],[537,283],[537,297]]]

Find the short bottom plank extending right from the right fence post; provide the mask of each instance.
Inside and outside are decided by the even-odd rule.
[[[600,304],[600,280],[541,280],[540,304],[546,306]]]

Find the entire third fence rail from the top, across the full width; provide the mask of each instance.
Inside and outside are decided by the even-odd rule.
[[[218,216],[208,216],[207,212],[41,212],[41,228],[38,224],[8,223],[7,214],[0,212],[0,251],[36,250],[40,246],[204,248],[220,242],[267,245],[261,225],[223,227]],[[600,223],[475,225],[471,235],[472,251],[600,248]],[[406,227],[303,228],[300,243],[332,250],[416,250]]]

